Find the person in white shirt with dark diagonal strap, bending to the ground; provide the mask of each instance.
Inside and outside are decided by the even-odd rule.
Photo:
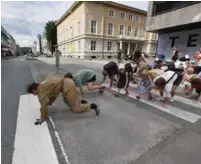
[[[168,100],[172,100],[175,90],[182,82],[182,74],[174,71],[166,71],[154,79],[154,85],[163,97],[163,106],[168,104]]]

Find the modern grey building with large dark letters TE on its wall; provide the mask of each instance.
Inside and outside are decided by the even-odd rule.
[[[201,2],[149,2],[146,30],[159,34],[157,54],[170,58],[177,46],[181,57],[193,58],[201,47]]]

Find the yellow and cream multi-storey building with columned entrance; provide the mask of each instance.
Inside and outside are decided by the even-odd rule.
[[[76,1],[56,23],[59,50],[78,58],[142,50],[146,14],[116,2]]]

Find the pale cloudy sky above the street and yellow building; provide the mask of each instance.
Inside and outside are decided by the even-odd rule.
[[[148,1],[117,1],[146,10]],[[44,25],[59,19],[74,1],[1,1],[1,25],[15,38],[17,44],[33,46]]]

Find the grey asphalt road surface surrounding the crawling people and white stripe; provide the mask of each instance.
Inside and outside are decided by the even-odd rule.
[[[51,62],[48,64],[38,60],[24,61],[23,59],[4,61],[1,68],[2,163],[8,164],[12,161],[19,96],[25,94],[27,83],[34,80],[42,81],[55,69]],[[96,64],[75,65],[69,61],[61,68],[65,72],[72,73],[82,68],[91,68],[97,72],[97,81],[101,80],[100,68],[97,68]],[[50,121],[48,127],[60,164],[65,164],[66,161],[61,146],[56,140],[55,130],[59,133],[71,164],[146,162],[159,164],[163,159],[170,157],[168,155],[172,150],[178,151],[179,148],[181,152],[185,149],[189,150],[188,159],[184,158],[186,163],[200,162],[200,155],[198,155],[201,148],[200,122],[190,128],[191,132],[188,133],[187,127],[194,124],[159,111],[143,102],[123,96],[115,98],[110,90],[102,96],[87,90],[85,93],[89,102],[100,104],[100,116],[95,116],[93,112],[73,114],[62,102],[61,97],[49,108],[48,112],[55,123],[55,128]],[[185,147],[182,147],[182,144],[185,144]],[[175,146],[180,147],[176,149]],[[194,154],[192,159],[191,152]],[[177,163],[183,162],[179,155],[177,154]],[[172,159],[174,159],[173,155]]]

